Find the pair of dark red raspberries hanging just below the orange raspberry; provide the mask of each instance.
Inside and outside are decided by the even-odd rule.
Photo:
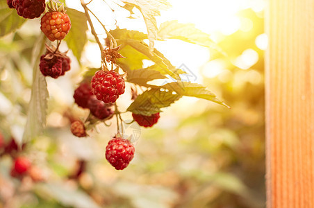
[[[40,57],[40,71],[44,76],[58,78],[71,69],[71,60],[66,55],[46,53]]]

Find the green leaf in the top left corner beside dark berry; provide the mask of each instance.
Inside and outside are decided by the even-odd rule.
[[[0,37],[16,31],[25,21],[15,9],[8,8],[6,1],[0,2]]]

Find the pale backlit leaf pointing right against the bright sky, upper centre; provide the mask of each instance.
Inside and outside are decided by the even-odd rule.
[[[210,35],[195,28],[195,24],[181,24],[176,20],[166,21],[160,24],[158,31],[158,40],[178,39],[192,44],[198,44],[210,49],[215,49],[226,55],[222,49],[213,40]]]

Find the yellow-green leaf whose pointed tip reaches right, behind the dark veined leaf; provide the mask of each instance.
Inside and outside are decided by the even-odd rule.
[[[156,86],[151,86],[156,87]],[[162,89],[168,89],[172,92],[176,92],[181,96],[192,96],[196,98],[203,98],[208,101],[212,101],[218,103],[220,105],[226,105],[226,103],[220,101],[215,94],[210,92],[206,87],[196,84],[196,83],[188,83],[188,82],[176,82],[176,83],[167,83],[166,85],[161,86]],[[230,108],[230,107],[229,107]]]

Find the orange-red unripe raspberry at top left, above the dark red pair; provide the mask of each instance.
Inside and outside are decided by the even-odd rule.
[[[69,33],[71,21],[63,12],[47,12],[41,19],[40,29],[50,41],[63,40]]]

